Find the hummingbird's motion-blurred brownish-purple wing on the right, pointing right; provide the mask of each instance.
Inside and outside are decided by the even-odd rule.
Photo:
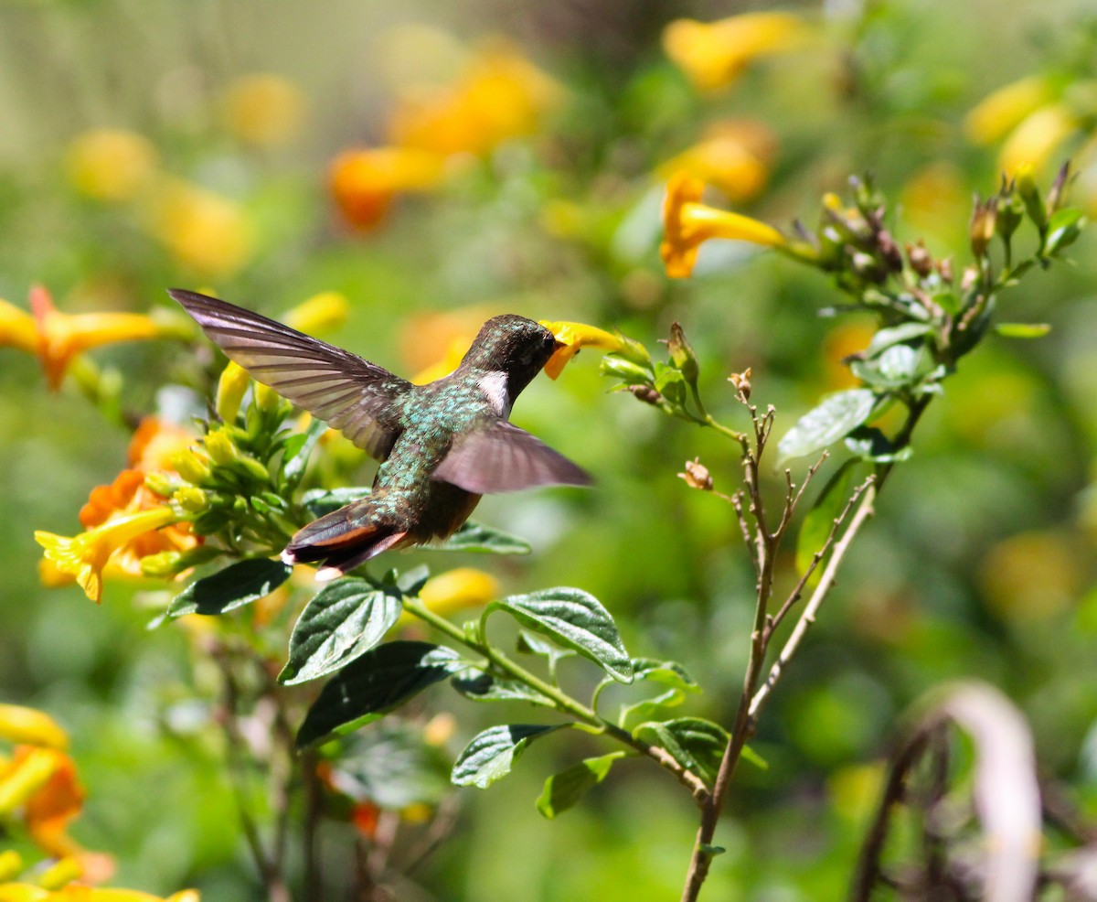
[[[456,440],[431,478],[474,495],[538,485],[590,485],[585,470],[541,439],[506,420],[494,420]]]

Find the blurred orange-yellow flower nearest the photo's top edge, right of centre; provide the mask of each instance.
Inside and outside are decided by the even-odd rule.
[[[760,56],[802,46],[807,25],[787,12],[748,12],[719,22],[678,19],[663,32],[663,49],[701,90],[731,84]]]

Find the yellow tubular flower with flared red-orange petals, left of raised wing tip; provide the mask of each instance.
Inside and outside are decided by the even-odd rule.
[[[137,341],[158,338],[161,327],[148,316],[138,313],[61,313],[41,285],[31,289],[31,311],[37,330],[35,348],[46,384],[56,391],[70,361],[78,353],[115,341]],[[3,309],[0,308],[0,317]],[[2,335],[0,319],[0,335]],[[19,326],[20,330],[25,324]]]

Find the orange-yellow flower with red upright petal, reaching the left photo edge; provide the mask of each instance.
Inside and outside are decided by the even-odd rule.
[[[31,289],[31,312],[33,316],[0,301],[0,347],[37,354],[50,391],[57,391],[72,358],[82,351],[168,335],[144,314],[61,313],[41,285]]]

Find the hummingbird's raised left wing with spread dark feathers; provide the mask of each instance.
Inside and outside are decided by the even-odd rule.
[[[399,424],[393,401],[411,383],[258,313],[192,291],[168,291],[210,339],[257,381],[383,461]]]

